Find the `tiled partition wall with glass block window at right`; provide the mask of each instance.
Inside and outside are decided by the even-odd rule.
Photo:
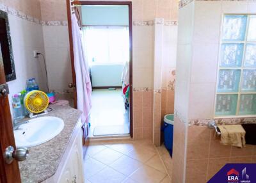
[[[255,131],[255,6],[252,1],[180,3],[173,182],[207,182],[227,163],[256,163],[251,139],[243,148],[222,145],[207,126],[250,123]]]

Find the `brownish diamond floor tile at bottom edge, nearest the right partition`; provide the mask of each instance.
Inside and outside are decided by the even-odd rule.
[[[159,183],[166,177],[166,173],[144,165],[136,170],[129,178],[137,182]]]

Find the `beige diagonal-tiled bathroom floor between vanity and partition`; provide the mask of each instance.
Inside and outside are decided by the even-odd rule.
[[[86,183],[170,183],[150,141],[90,143],[84,158]]]

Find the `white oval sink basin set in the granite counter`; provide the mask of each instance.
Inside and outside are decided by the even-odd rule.
[[[63,130],[61,118],[52,116],[29,120],[14,132],[16,147],[33,147],[54,138]]]

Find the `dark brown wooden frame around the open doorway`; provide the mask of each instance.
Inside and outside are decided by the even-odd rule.
[[[133,137],[133,111],[132,111],[132,2],[131,1],[74,1],[73,4],[79,5],[127,5],[129,7],[129,41],[130,41],[130,61],[129,61],[129,84],[130,84],[130,101],[129,101],[129,121],[130,121],[130,136]],[[72,22],[71,22],[71,3],[67,0],[67,15],[68,15],[68,35],[70,42],[70,58],[72,65],[72,79],[76,84],[76,73],[74,70],[74,51],[72,38]],[[76,92],[76,90],[74,90]],[[77,107],[77,96],[74,93],[74,105]]]

